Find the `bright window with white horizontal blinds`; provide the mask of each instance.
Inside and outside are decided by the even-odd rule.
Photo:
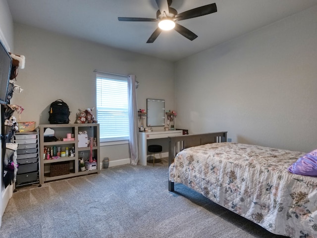
[[[96,92],[100,141],[129,140],[127,77],[97,74]]]

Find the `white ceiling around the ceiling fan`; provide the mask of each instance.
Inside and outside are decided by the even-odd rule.
[[[317,0],[173,0],[178,13],[215,2],[217,12],[179,21],[198,38],[162,32],[147,44],[157,22],[122,22],[117,17],[156,18],[155,0],[7,0],[13,21],[106,46],[177,61],[271,24],[317,4]]]

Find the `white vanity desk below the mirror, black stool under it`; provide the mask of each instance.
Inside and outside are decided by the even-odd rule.
[[[155,140],[167,137],[182,136],[183,130],[175,131],[157,131],[157,132],[139,132],[139,144],[140,144],[140,165],[147,165],[147,152],[148,152],[148,140]]]

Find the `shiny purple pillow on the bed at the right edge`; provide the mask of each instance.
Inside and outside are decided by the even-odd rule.
[[[300,157],[288,170],[293,174],[317,176],[317,149]]]

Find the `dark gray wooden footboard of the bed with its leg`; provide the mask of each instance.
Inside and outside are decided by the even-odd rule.
[[[227,142],[227,132],[168,137],[168,168],[179,151],[193,146],[219,142]],[[168,181],[168,190],[174,191],[173,182]]]

